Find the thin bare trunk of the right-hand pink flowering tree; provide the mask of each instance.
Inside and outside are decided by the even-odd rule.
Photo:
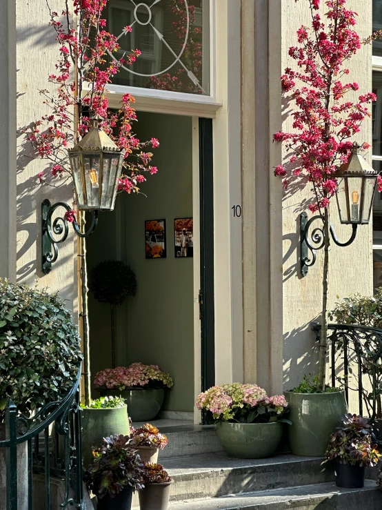
[[[328,273],[330,248],[330,215],[329,207],[325,208],[323,216],[324,257],[323,257],[323,295],[321,317],[321,339],[319,350],[319,388],[325,390],[326,351],[328,347]]]

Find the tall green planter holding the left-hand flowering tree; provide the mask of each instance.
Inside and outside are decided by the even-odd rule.
[[[82,460],[87,468],[93,460],[92,447],[99,447],[110,435],[130,435],[126,405],[114,409],[82,409]]]

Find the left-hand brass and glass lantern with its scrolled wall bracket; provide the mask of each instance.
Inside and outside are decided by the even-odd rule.
[[[94,119],[89,133],[68,152],[77,208],[92,213],[92,222],[86,232],[81,232],[75,220],[71,223],[79,237],[88,237],[97,227],[99,210],[114,209],[125,150],[120,150],[99,128],[98,119]],[[45,274],[52,271],[52,264],[59,255],[58,245],[65,242],[69,234],[70,222],[65,215],[52,222],[54,211],[60,207],[67,212],[72,209],[64,202],[51,204],[48,199],[41,206],[42,271]]]

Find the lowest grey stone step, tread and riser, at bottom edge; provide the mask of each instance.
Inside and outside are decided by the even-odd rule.
[[[171,503],[169,510],[380,510],[382,493],[374,480],[364,489],[339,489],[332,483],[258,491],[206,500]]]

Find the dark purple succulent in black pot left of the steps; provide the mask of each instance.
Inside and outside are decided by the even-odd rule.
[[[143,488],[143,463],[129,442],[128,435],[111,435],[93,451],[84,480],[97,495],[97,510],[130,510],[132,493]]]

